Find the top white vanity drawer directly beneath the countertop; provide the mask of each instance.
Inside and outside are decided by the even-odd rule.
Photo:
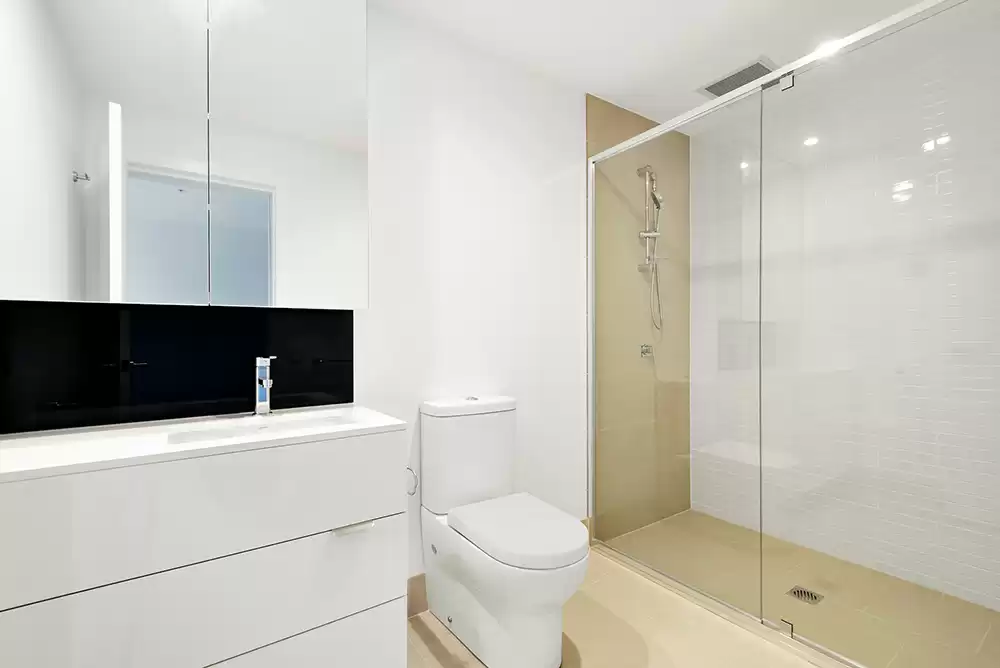
[[[402,512],[404,433],[0,484],[0,610]]]

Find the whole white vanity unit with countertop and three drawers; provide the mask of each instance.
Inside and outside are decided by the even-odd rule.
[[[0,440],[0,665],[406,665],[405,424],[359,407]]]

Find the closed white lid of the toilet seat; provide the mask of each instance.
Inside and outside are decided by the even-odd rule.
[[[448,526],[497,561],[520,568],[568,566],[589,549],[580,520],[530,494],[453,508]]]

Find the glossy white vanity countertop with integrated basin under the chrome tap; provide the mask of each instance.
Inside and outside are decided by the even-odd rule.
[[[0,437],[0,484],[405,428],[367,408],[337,406],[14,435]]]

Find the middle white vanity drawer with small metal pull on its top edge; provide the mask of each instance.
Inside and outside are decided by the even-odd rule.
[[[396,515],[9,610],[0,666],[201,668],[403,596],[406,547]]]

